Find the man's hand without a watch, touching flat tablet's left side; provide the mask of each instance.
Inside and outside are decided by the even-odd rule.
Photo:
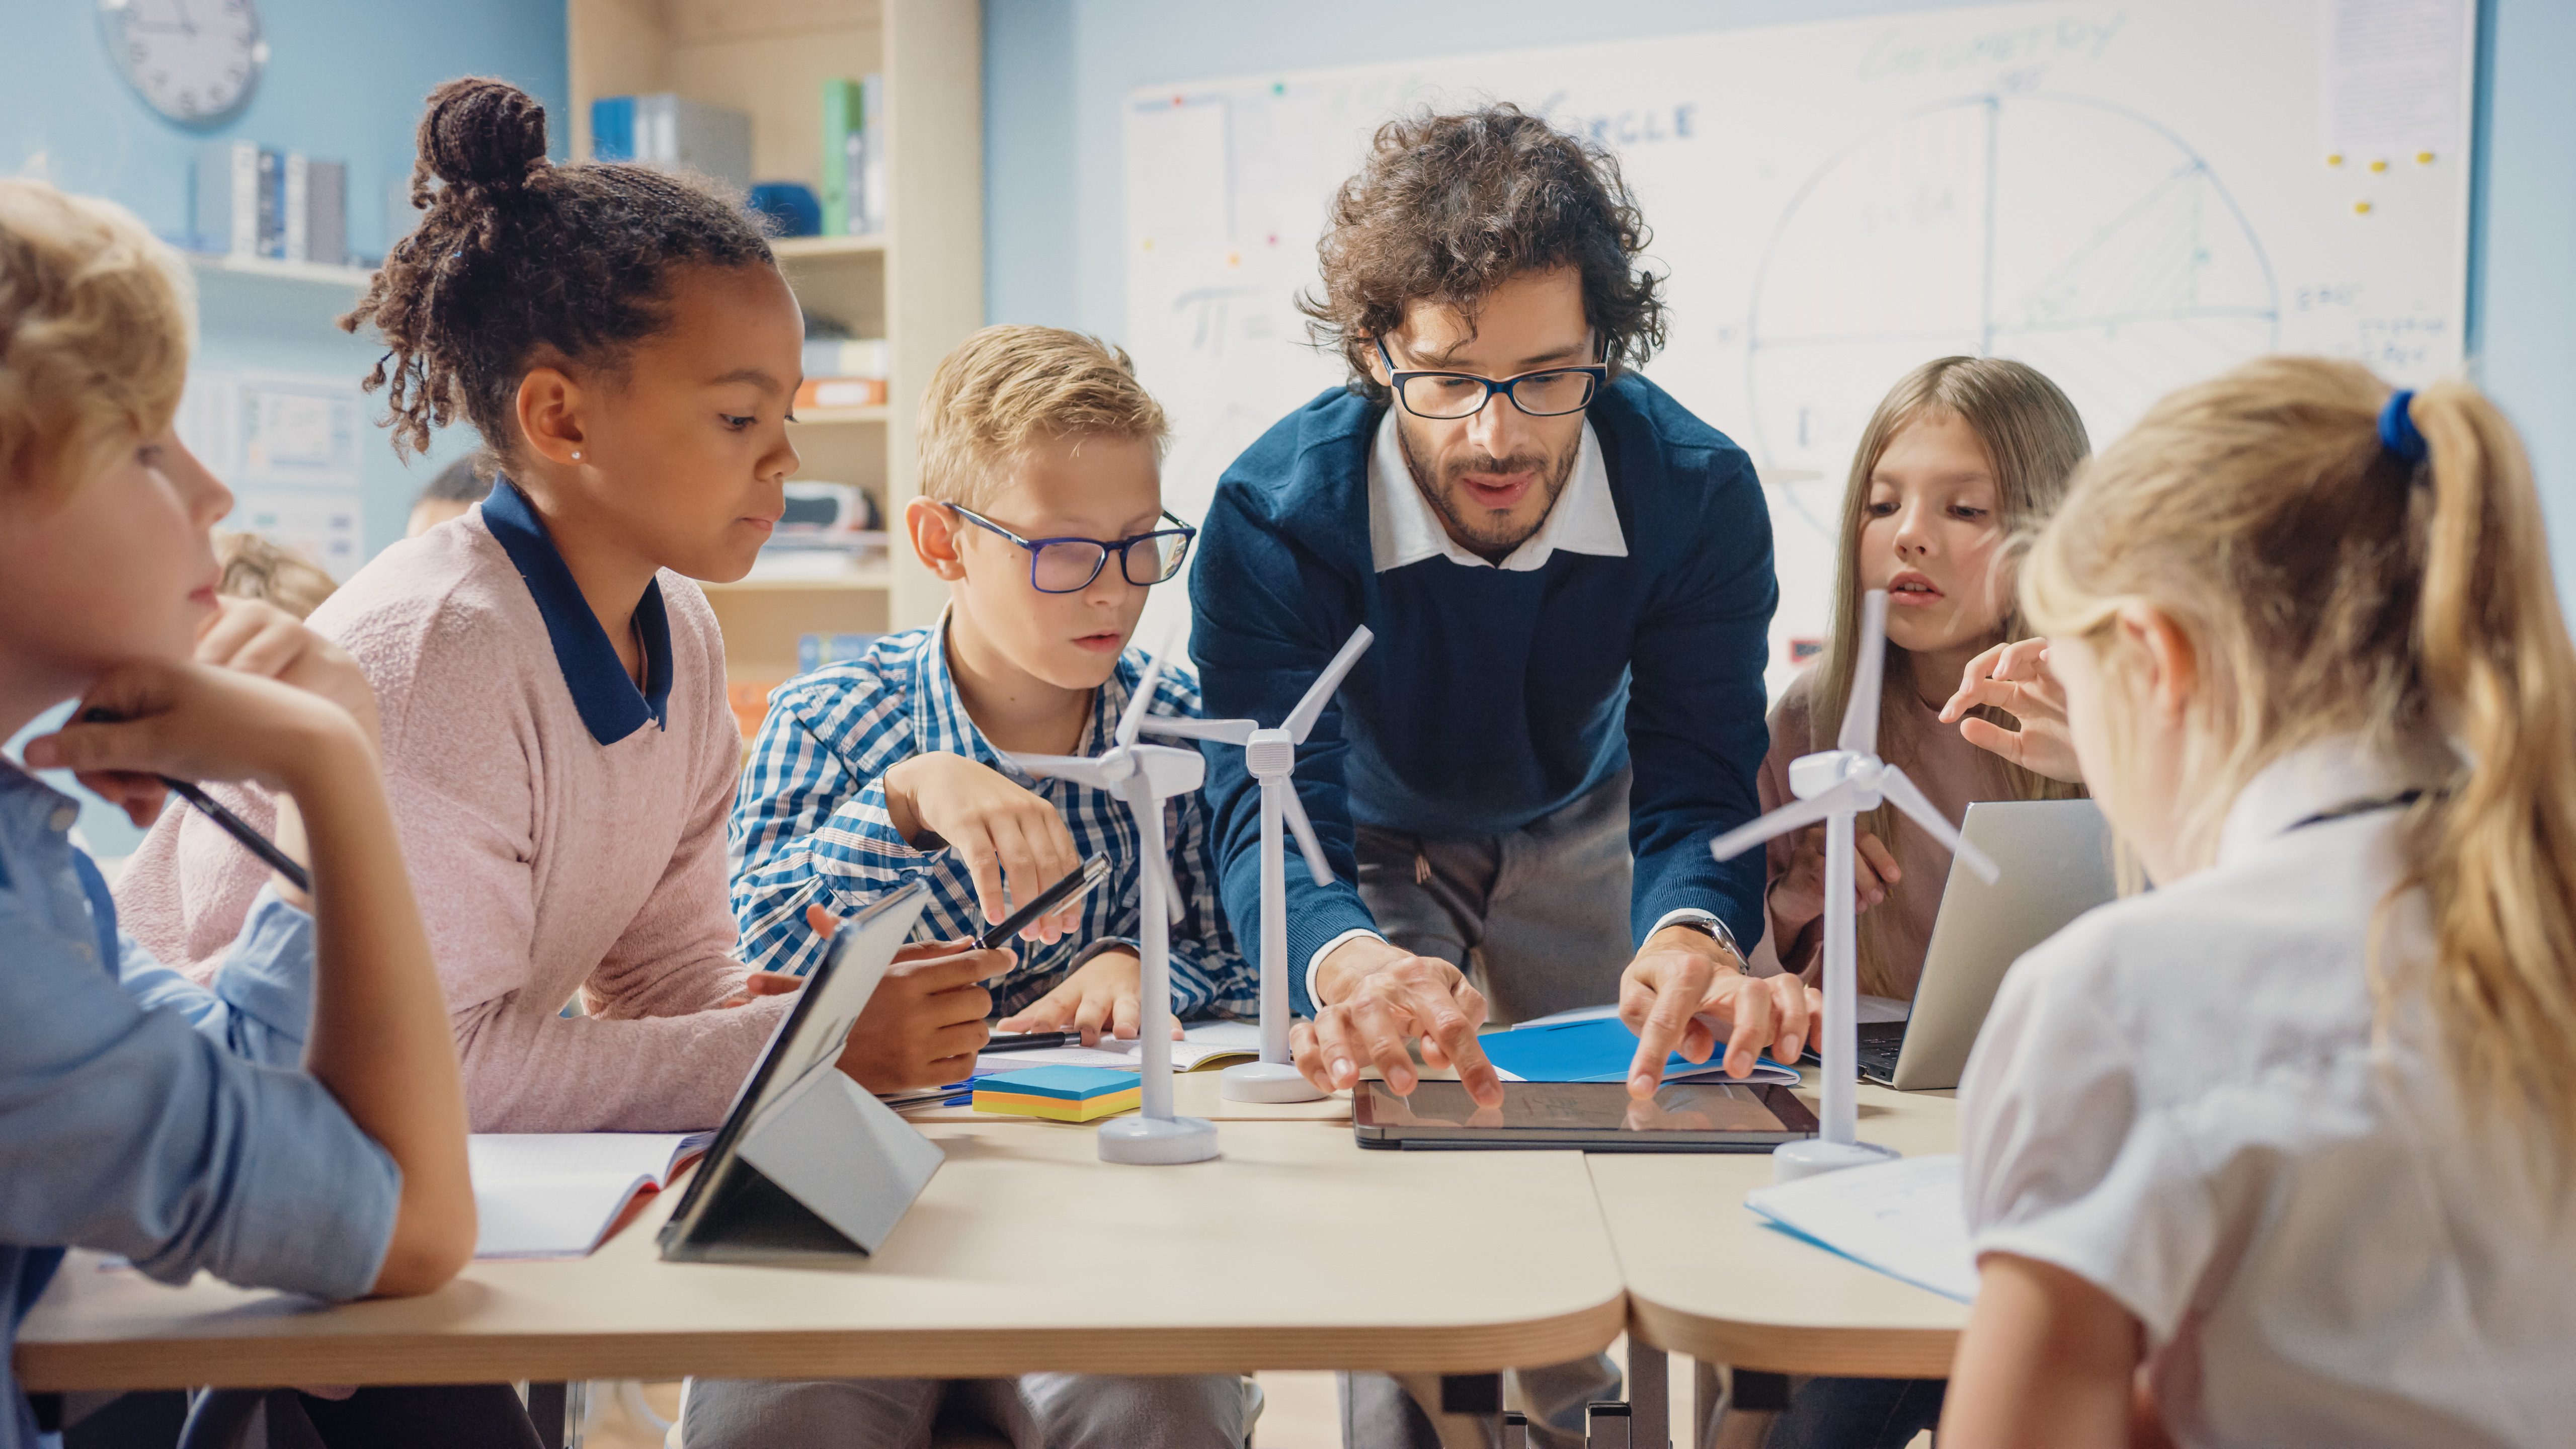
[[[1425,1062],[1455,1067],[1481,1106],[1502,1104],[1502,1078],[1476,1047],[1484,993],[1458,967],[1355,936],[1324,957],[1316,993],[1324,1000],[1314,1024],[1301,1021],[1288,1034],[1296,1070],[1316,1088],[1350,1091],[1360,1067],[1376,1065],[1396,1096],[1412,1096],[1414,1060],[1404,1042],[1419,1036]]]

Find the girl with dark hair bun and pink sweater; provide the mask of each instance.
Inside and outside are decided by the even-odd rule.
[[[781,516],[804,320],[739,206],[639,165],[549,162],[544,108],[500,80],[430,93],[412,204],[420,227],[340,325],[384,338],[366,387],[397,449],[464,420],[500,477],[312,627],[381,701],[471,1122],[714,1127],[791,982],[734,959],[742,735],[693,580],[742,578]],[[139,933],[211,964],[258,871],[149,846],[137,864]],[[891,972],[842,1070],[956,1080],[981,1042],[974,982],[1007,964]],[[562,1016],[574,995],[585,1013]]]

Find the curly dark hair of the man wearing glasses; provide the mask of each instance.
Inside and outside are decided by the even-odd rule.
[[[1378,126],[1368,165],[1334,193],[1316,242],[1324,294],[1301,294],[1298,312],[1319,348],[1342,351],[1350,389],[1383,402],[1368,358],[1376,338],[1404,325],[1404,304],[1473,317],[1515,273],[1574,266],[1584,320],[1618,376],[1664,345],[1664,281],[1636,266],[1649,240],[1602,147],[1512,103],[1417,111]]]

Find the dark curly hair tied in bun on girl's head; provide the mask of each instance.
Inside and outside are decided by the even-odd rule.
[[[340,317],[384,335],[366,389],[386,387],[397,454],[464,415],[507,459],[538,356],[613,369],[665,325],[670,268],[775,266],[760,222],[696,178],[551,165],[546,108],[505,80],[430,90],[412,206],[420,227]]]

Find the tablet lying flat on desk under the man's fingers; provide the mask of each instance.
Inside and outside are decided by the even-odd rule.
[[[1350,1129],[1360,1147],[1404,1150],[1770,1152],[1814,1137],[1816,1114],[1770,1083],[1664,1083],[1646,1101],[1628,1083],[1502,1083],[1502,1106],[1476,1106],[1458,1083],[1404,1098],[1365,1080]]]

